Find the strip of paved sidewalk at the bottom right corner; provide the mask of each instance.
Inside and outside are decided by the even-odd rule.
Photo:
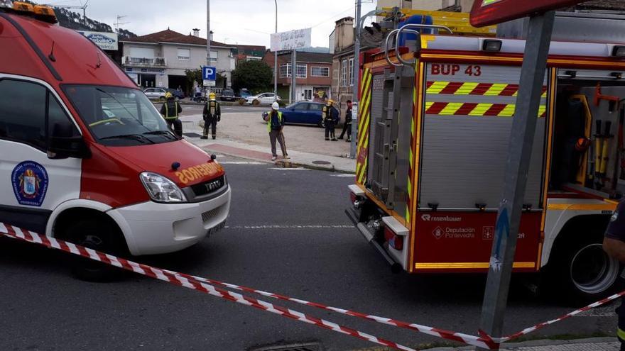
[[[587,338],[577,340],[532,340],[509,342],[501,347],[501,351],[619,351],[620,342],[616,338]],[[468,351],[473,346],[435,347],[428,351]]]

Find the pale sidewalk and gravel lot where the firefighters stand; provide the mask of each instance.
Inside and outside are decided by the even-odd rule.
[[[266,123],[261,120],[259,112],[222,113],[222,121],[217,123],[217,140],[210,137],[207,140],[200,139],[200,115],[181,116],[180,119],[183,121],[185,140],[207,152],[272,162]],[[280,145],[277,145],[276,164],[283,167],[300,166],[334,172],[356,172],[356,160],[347,157],[349,143],[343,140],[325,141],[322,128],[286,126],[284,133],[290,160],[283,160]]]

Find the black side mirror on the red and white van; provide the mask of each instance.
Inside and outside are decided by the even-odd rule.
[[[70,130],[63,130],[64,128],[59,123],[55,123],[53,132],[48,139],[48,158],[50,160],[64,160],[70,157],[91,157],[91,151],[82,135],[72,133],[75,130],[74,126],[68,125],[67,127]]]

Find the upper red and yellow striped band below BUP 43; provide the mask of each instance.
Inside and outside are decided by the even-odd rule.
[[[516,96],[518,84],[477,82],[428,82],[426,94]],[[543,97],[547,87],[543,87]]]

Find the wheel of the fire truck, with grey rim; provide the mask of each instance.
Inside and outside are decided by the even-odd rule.
[[[550,295],[567,303],[589,303],[614,293],[621,264],[604,252],[601,238],[595,235],[594,240],[577,240],[556,248],[548,278],[553,284]]]

